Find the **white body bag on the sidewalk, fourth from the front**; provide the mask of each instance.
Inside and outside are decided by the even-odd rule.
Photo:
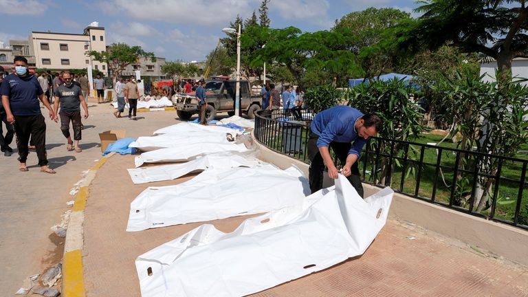
[[[181,144],[177,148],[160,148],[155,151],[148,151],[135,157],[136,167],[144,163],[170,163],[184,162],[196,159],[201,155],[212,153],[249,153],[251,150],[245,144],[218,144],[218,143],[191,143]]]

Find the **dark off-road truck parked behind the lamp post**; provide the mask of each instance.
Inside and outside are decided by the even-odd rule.
[[[228,115],[234,115],[235,80],[207,80],[206,96],[208,107],[206,110],[207,120],[214,120],[217,112],[227,111]],[[247,80],[240,82],[240,107],[248,118],[254,118],[254,112],[261,110],[262,97],[252,95],[250,84]],[[173,105],[181,120],[188,120],[199,113],[196,92],[178,94],[173,96]]]

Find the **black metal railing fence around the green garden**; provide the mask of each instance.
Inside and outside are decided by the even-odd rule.
[[[259,111],[254,135],[308,163],[312,117],[308,110]],[[528,159],[372,137],[358,165],[366,183],[528,230]]]

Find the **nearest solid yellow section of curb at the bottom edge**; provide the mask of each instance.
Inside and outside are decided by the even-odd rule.
[[[74,250],[66,252],[63,260],[64,297],[85,297],[85,276],[83,274],[83,252]]]

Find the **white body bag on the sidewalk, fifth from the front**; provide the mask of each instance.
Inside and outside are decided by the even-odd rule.
[[[129,147],[137,148],[140,151],[155,151],[159,148],[178,148],[188,144],[201,142],[228,144],[229,141],[225,133],[212,133],[209,131],[197,131],[194,133],[180,133],[157,136],[141,136]]]

